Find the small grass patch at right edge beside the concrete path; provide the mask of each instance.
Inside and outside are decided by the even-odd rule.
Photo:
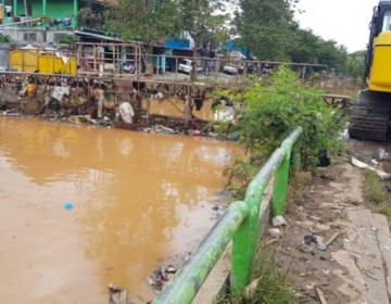
[[[364,173],[364,199],[370,203],[370,207],[380,214],[391,218],[391,203],[384,185],[375,172]]]

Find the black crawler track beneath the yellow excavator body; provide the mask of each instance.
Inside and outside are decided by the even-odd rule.
[[[391,93],[361,91],[352,106],[351,138],[384,141],[388,136],[391,112]]]

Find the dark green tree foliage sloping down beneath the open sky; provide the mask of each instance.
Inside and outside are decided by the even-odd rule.
[[[294,21],[299,0],[240,0],[235,29],[239,45],[258,60],[326,64],[344,72],[346,50]]]

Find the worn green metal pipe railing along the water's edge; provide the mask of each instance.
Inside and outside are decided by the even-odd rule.
[[[153,304],[191,303],[215,263],[234,239],[230,286],[234,294],[240,294],[250,282],[251,267],[256,253],[260,211],[263,197],[274,177],[272,212],[282,215],[288,194],[289,167],[300,167],[300,148],[297,143],[302,128],[293,130],[283,140],[261,172],[250,182],[244,201],[232,203],[209,235],[203,239],[197,252],[187,261]],[[291,157],[292,156],[292,157]]]

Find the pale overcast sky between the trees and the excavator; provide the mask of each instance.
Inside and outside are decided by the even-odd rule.
[[[302,28],[344,45],[349,52],[366,49],[368,25],[378,0],[300,0],[297,15]]]

